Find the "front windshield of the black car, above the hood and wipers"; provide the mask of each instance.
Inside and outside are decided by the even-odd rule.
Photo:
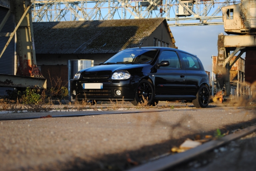
[[[157,49],[126,49],[118,52],[112,58],[104,62],[104,64],[140,64],[151,62],[156,53]]]

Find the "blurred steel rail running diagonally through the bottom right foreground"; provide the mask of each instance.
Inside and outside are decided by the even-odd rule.
[[[253,126],[245,128],[245,129],[242,129],[238,133],[226,135],[225,137],[210,141],[208,143],[204,143],[203,145],[200,145],[196,148],[190,149],[183,153],[178,153],[175,155],[168,155],[168,156],[162,157],[160,159],[156,159],[154,161],[140,165],[138,167],[128,169],[127,171],[162,171],[162,170],[166,170],[166,169],[169,169],[170,167],[174,167],[175,165],[178,165],[182,162],[188,161],[194,157],[197,157],[197,156],[199,156],[203,153],[206,153],[212,149],[215,149],[219,146],[229,143],[230,141],[234,141],[236,139],[244,137],[244,136],[246,136],[250,133],[253,133],[255,131],[256,131],[256,125],[253,125]]]

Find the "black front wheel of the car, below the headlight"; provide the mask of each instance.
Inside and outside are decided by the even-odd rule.
[[[147,80],[141,80],[136,88],[134,101],[131,101],[133,105],[138,105],[138,103],[141,103],[143,101],[142,96],[144,96],[145,99],[148,98],[148,105],[150,105],[153,101],[153,95],[154,95],[154,88],[150,82]]]

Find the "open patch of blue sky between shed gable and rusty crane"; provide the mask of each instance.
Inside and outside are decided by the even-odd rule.
[[[218,34],[226,35],[223,25],[175,26],[170,29],[178,49],[196,55],[204,65],[204,70],[211,72],[211,57],[218,55]]]

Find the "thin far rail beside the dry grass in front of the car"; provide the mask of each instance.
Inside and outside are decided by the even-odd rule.
[[[122,114],[127,114],[127,113],[152,113],[152,112],[182,111],[182,110],[198,110],[198,109],[181,109],[181,110],[168,109],[168,110],[150,110],[150,111],[116,111],[116,112],[109,112],[109,113],[98,112],[98,113],[83,113],[83,114],[73,114],[73,115],[72,114],[69,114],[69,115],[51,115],[51,117],[79,117],[79,116],[89,116],[89,115],[110,115],[110,114],[121,114],[121,113]],[[63,112],[65,112],[65,111],[63,111]],[[31,113],[31,112],[27,112],[27,113]],[[0,118],[0,121],[38,119],[38,118],[42,118],[46,115],[49,115],[50,113],[52,113],[52,112],[42,112],[41,116],[30,116],[30,117],[2,117],[2,118]],[[18,114],[20,114],[20,113],[18,113]]]

